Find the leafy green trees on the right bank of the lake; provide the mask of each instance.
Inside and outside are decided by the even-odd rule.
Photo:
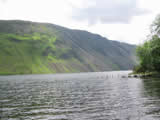
[[[134,71],[137,73],[160,72],[160,15],[156,17],[150,29],[148,39],[136,49],[139,65]]]

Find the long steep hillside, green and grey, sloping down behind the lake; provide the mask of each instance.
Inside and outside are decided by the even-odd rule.
[[[0,21],[0,74],[132,69],[135,46],[86,31],[28,21]]]

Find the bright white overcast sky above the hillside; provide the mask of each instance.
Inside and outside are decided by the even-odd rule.
[[[140,44],[159,5],[160,0],[0,0],[0,20],[49,22]]]

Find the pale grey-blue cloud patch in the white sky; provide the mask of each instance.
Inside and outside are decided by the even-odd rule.
[[[137,0],[88,0],[85,7],[75,8],[73,18],[88,20],[89,24],[129,23],[134,16],[144,15],[147,10],[137,6]]]

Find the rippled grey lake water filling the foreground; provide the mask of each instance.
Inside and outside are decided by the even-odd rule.
[[[0,77],[0,120],[160,120],[160,79],[129,71]]]

